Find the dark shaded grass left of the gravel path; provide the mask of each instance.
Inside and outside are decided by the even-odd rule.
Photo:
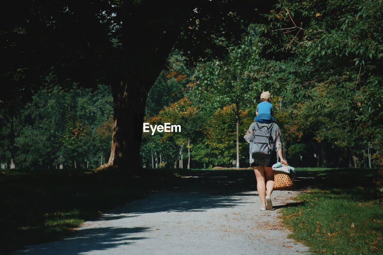
[[[59,240],[104,210],[141,198],[171,174],[142,171],[0,172],[0,253]],[[169,181],[168,181],[169,182]]]

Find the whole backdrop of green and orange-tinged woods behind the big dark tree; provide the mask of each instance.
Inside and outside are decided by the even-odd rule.
[[[143,167],[247,167],[242,137],[263,90],[273,95],[291,165],[382,164],[381,1],[280,1],[264,18],[244,23],[240,39],[211,34],[223,54],[193,58],[173,47],[149,91],[144,122],[181,125],[182,132],[143,133]],[[199,25],[195,20],[189,29]],[[12,77],[21,79],[17,72]],[[110,86],[45,80],[49,86],[27,101],[1,101],[2,168],[97,168],[107,162]]]

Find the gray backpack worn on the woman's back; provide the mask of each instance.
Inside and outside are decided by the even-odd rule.
[[[255,157],[271,157],[274,150],[274,141],[271,135],[274,123],[268,126],[256,122],[253,129],[253,139],[249,142],[250,153]]]

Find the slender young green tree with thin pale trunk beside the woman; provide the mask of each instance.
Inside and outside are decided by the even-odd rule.
[[[236,118],[237,168],[240,116],[262,92],[261,85],[254,79],[254,70],[260,65],[260,48],[256,44],[258,35],[257,26],[249,26],[239,46],[230,47],[228,55],[223,60],[201,63],[197,67],[195,77],[199,83],[195,88],[207,91],[211,100],[216,101],[217,105],[229,106]]]

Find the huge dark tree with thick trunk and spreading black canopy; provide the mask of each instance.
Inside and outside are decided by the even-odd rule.
[[[191,61],[224,51],[216,39],[235,41],[244,21],[261,18],[254,9],[268,10],[271,3],[72,0],[2,5],[0,56],[11,62],[1,66],[0,100],[49,85],[47,75],[52,75],[50,84],[62,86],[73,81],[83,87],[108,84],[114,124],[105,167],[136,168],[147,94],[175,43],[190,52]]]

